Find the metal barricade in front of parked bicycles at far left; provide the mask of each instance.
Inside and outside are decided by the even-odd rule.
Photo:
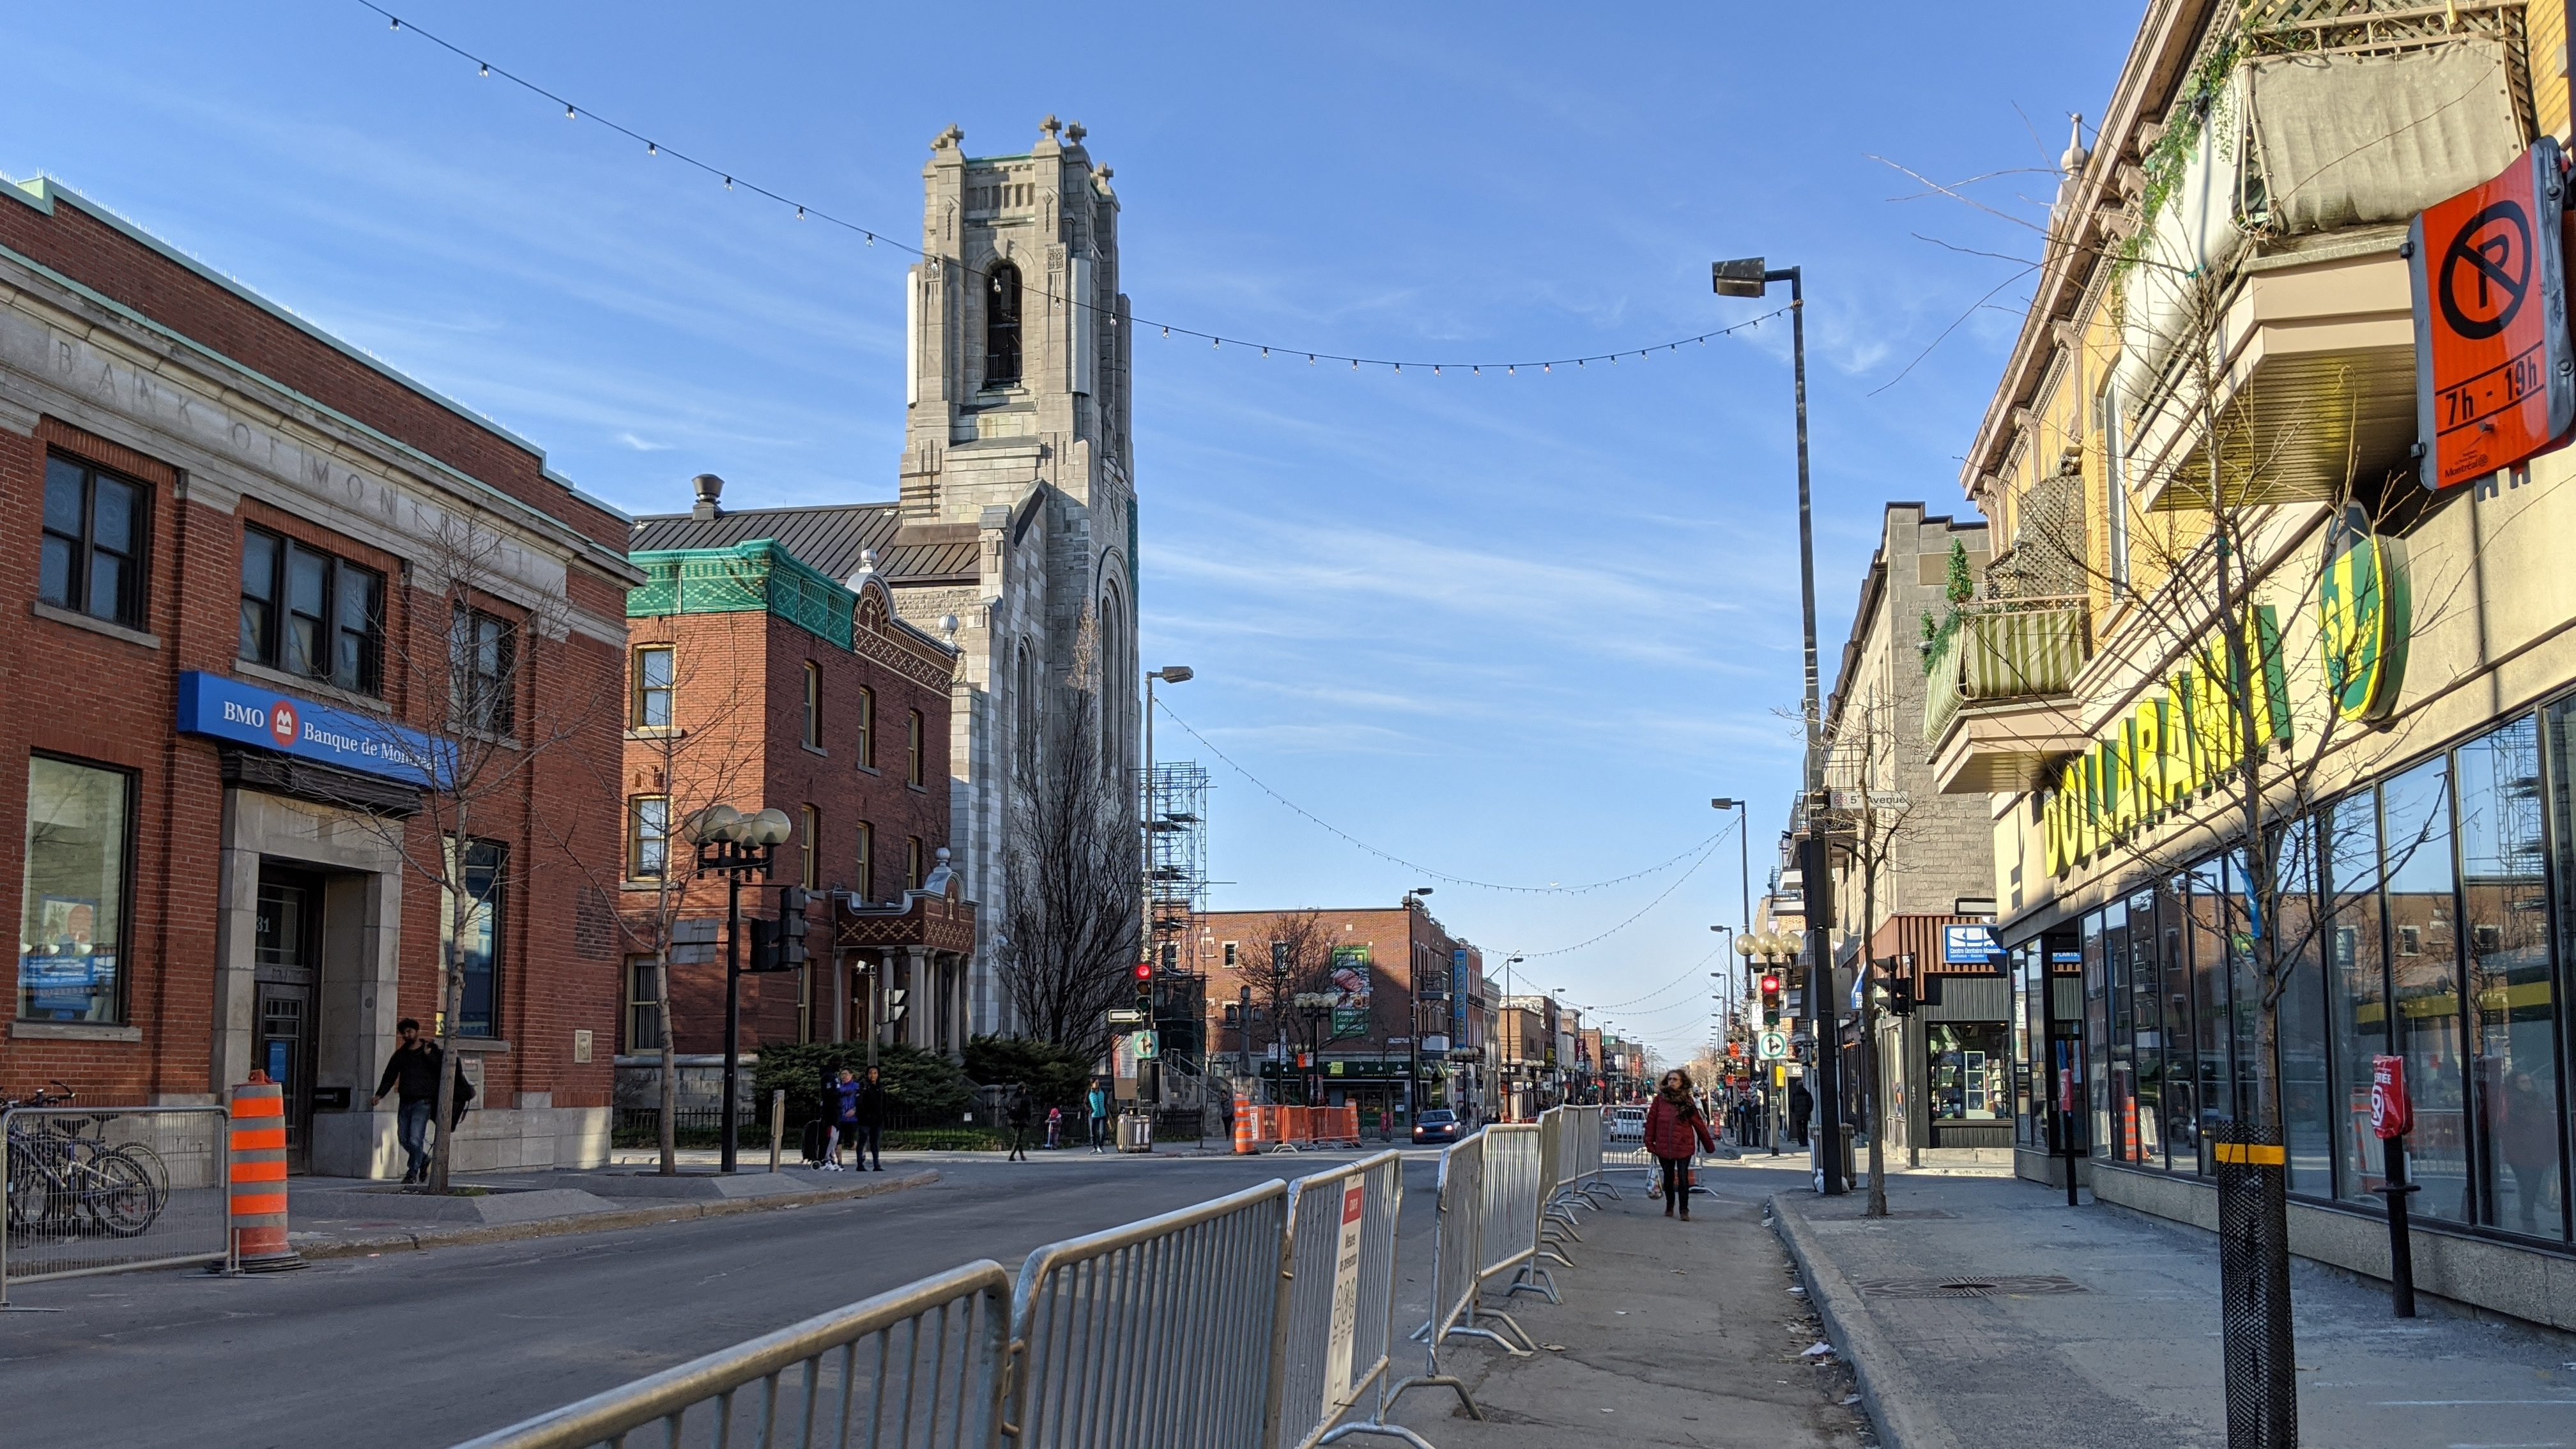
[[[10,1284],[232,1266],[229,1178],[222,1106],[0,1111],[0,1305]]]

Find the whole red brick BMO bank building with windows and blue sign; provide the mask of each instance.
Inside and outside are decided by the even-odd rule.
[[[0,1091],[201,1104],[265,1067],[299,1171],[392,1176],[368,1096],[394,1021],[440,1013],[415,861],[461,794],[392,745],[471,709],[518,766],[459,846],[497,890],[466,923],[456,1163],[600,1160],[626,521],[46,180],[0,186],[0,500],[28,704],[0,717]]]

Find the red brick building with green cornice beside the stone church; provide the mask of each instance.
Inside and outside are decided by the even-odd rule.
[[[623,1052],[659,1052],[657,923],[696,923],[672,967],[685,1055],[724,1049],[724,877],[693,877],[688,820],[708,804],[775,807],[793,833],[744,915],[775,887],[814,892],[809,964],[742,980],[742,1049],[884,1039],[966,1047],[974,902],[948,861],[948,706],[956,650],[894,616],[873,541],[886,508],[726,511],[698,480],[690,513],[641,518],[626,601],[626,887],[634,959]],[[835,572],[817,567],[835,565]],[[757,877],[755,877],[757,879]]]

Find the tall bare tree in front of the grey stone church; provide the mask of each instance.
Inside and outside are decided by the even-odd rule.
[[[1002,990],[1023,1029],[1097,1060],[1139,959],[1144,879],[1123,781],[1100,771],[1100,681],[1084,616],[1074,670],[1038,740],[1012,761],[1002,848]]]

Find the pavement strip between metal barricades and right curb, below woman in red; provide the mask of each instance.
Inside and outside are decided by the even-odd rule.
[[[1507,1307],[1538,1356],[1440,1346],[1440,1366],[1468,1382],[1484,1423],[1458,1413],[1450,1390],[1406,1392],[1394,1421],[1437,1449],[1868,1444],[1857,1403],[1844,1403],[1852,1374],[1834,1356],[1806,1356],[1824,1330],[1765,1227],[1762,1194],[1785,1178],[1700,1168],[1721,1196],[1695,1199],[1690,1222],[1667,1222],[1641,1173],[1613,1181],[1623,1196],[1582,1212],[1584,1240],[1566,1245],[1577,1266],[1553,1266],[1564,1302],[1522,1294]],[[1409,1328],[1399,1315],[1399,1338]],[[1399,1343],[1394,1369],[1419,1374],[1422,1346]]]

